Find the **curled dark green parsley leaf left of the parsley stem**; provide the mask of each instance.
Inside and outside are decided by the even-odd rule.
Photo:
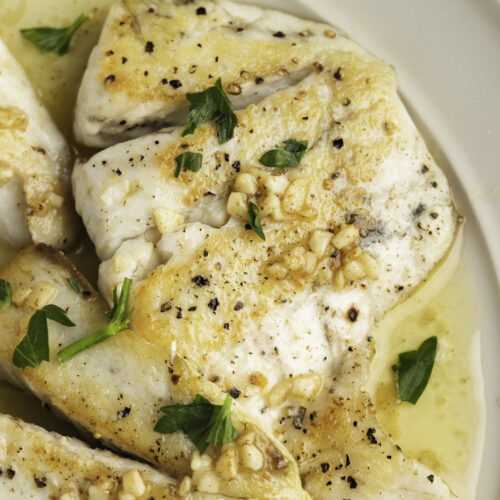
[[[37,368],[42,361],[49,361],[49,330],[47,319],[64,326],[75,326],[64,309],[49,304],[35,311],[28,323],[28,330],[15,348],[12,363],[18,368]]]

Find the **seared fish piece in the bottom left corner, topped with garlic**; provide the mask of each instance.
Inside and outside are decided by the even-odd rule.
[[[8,415],[0,415],[0,464],[5,500],[176,498],[164,473]]]

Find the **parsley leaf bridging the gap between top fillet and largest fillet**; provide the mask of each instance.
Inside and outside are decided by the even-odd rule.
[[[202,123],[213,121],[217,125],[219,144],[229,141],[234,135],[238,119],[233,106],[222,88],[219,78],[215,85],[202,92],[187,94],[189,113],[182,136],[192,134]]]

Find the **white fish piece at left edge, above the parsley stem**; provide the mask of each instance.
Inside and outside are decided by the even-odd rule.
[[[80,224],[68,145],[1,40],[0,68],[0,240],[69,248]]]

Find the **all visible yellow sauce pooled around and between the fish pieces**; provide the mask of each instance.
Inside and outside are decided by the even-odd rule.
[[[110,0],[0,0],[0,36],[26,69],[61,131],[78,148],[71,133],[73,108],[88,54],[95,45]],[[20,28],[66,26],[81,12],[89,16],[75,36],[69,54],[42,54],[19,35]],[[479,470],[484,416],[479,358],[478,311],[471,285],[458,263],[460,243],[410,299],[390,312],[375,332],[377,355],[368,390],[384,429],[405,454],[415,457],[448,482],[459,498],[469,499]],[[14,252],[0,246],[0,264]],[[70,256],[95,283],[97,259],[88,239]],[[398,403],[391,365],[399,352],[412,350],[437,335],[439,350],[429,385],[417,405]],[[31,396],[0,384],[0,410],[48,429],[75,434]]]

